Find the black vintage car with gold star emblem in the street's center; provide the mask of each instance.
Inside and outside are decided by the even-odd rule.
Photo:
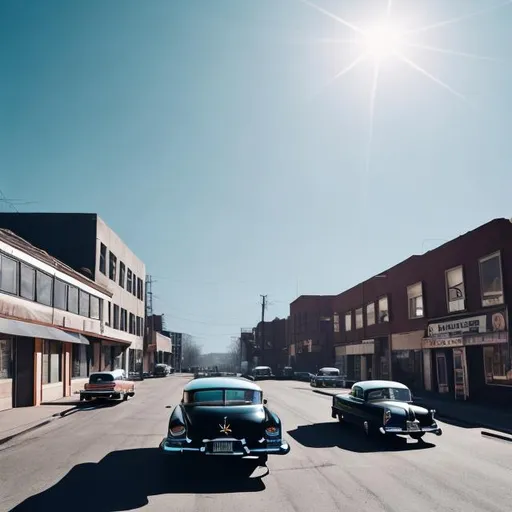
[[[261,388],[238,377],[208,377],[188,382],[169,420],[160,448],[169,454],[197,453],[257,457],[286,455],[279,417],[271,412]]]

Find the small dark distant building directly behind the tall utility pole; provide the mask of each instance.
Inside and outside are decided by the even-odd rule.
[[[255,334],[256,346],[260,349],[259,364],[270,366],[274,373],[282,370],[288,363],[286,319],[259,322]]]

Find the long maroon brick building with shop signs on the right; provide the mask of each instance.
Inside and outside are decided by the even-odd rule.
[[[510,401],[509,297],[512,223],[495,219],[332,298],[333,362],[347,380]]]

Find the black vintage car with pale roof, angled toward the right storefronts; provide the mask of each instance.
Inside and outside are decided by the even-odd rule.
[[[412,403],[407,386],[389,380],[356,382],[349,394],[332,398],[332,417],[361,426],[364,433],[409,435],[421,439],[426,433],[440,436],[434,410]]]

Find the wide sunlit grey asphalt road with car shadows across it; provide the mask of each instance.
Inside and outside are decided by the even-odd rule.
[[[506,512],[512,442],[443,424],[424,443],[368,442],[330,417],[330,399],[293,381],[262,387],[291,452],[191,468],[163,457],[169,409],[185,377],[147,380],[135,398],[80,410],[0,447],[0,511],[263,510]],[[232,459],[231,459],[232,461]]]

